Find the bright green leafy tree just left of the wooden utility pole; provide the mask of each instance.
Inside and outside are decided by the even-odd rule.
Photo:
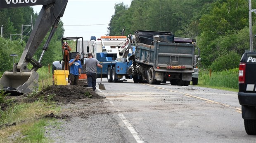
[[[220,53],[237,52],[237,31],[249,24],[248,2],[244,0],[218,0],[199,22],[202,65],[209,67]],[[230,36],[232,35],[232,36]]]

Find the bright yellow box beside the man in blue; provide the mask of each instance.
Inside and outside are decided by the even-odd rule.
[[[68,85],[69,71],[54,70],[54,85]]]

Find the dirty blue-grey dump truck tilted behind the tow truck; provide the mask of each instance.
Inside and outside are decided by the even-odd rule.
[[[190,85],[196,67],[196,40],[174,37],[172,32],[135,32],[135,52],[129,57],[133,64],[128,74],[135,83],[149,84],[170,81],[171,85]],[[200,51],[200,50],[199,50]]]

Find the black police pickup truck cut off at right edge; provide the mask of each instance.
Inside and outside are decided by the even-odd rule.
[[[244,53],[239,64],[238,100],[247,134],[256,135],[256,52]]]

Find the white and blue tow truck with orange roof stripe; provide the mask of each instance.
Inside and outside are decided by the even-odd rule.
[[[108,82],[123,82],[131,79],[127,69],[132,64],[128,57],[132,54],[132,42],[126,36],[101,36],[89,52],[102,64],[102,72],[97,67],[97,77],[107,77]]]

